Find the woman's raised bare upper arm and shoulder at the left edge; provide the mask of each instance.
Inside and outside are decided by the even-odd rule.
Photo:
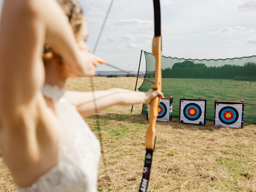
[[[45,25],[26,1],[6,0],[0,23],[0,92],[2,116],[28,104],[44,82],[41,53]]]

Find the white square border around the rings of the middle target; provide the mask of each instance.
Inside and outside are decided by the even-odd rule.
[[[195,103],[201,107],[202,113],[201,116],[194,121],[188,120],[184,114],[183,109],[187,104]],[[180,99],[180,116],[179,122],[180,123],[188,123],[188,124],[198,124],[198,125],[205,125],[206,120],[206,100],[201,99]]]

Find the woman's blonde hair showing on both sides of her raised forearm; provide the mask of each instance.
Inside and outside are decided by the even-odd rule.
[[[82,26],[84,14],[82,8],[78,4],[77,0],[57,0],[66,16],[68,16],[68,20],[73,29],[74,35],[78,38],[79,31]],[[54,57],[54,52],[52,48],[48,45],[44,46],[43,53],[43,61],[46,63],[48,60]]]

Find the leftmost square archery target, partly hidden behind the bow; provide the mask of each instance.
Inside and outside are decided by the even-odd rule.
[[[150,105],[147,105],[147,119],[149,120]],[[158,104],[157,121],[171,121],[172,120],[172,97],[164,97]]]

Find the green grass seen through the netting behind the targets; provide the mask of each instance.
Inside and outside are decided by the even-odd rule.
[[[153,79],[148,78],[153,81]],[[151,82],[144,82],[140,90],[148,90]],[[204,99],[206,119],[214,120],[214,99],[244,100],[244,121],[256,123],[256,82],[227,79],[178,79],[163,78],[162,91],[173,96],[173,114],[179,116],[180,98]],[[146,108],[144,108],[146,110]]]

